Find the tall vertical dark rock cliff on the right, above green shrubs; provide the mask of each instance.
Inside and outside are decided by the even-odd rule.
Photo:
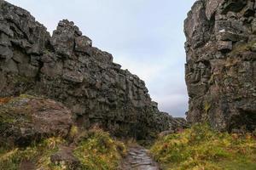
[[[199,0],[184,22],[189,122],[256,127],[255,0]]]

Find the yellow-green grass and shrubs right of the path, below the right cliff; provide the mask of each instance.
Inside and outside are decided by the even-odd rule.
[[[161,137],[150,151],[164,169],[256,169],[253,135],[218,133],[205,124]]]

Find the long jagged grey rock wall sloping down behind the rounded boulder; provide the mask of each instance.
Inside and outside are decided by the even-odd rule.
[[[98,123],[118,136],[145,139],[175,127],[145,83],[73,22],[62,20],[50,37],[26,10],[1,1],[0,23],[0,97],[44,95],[67,105],[80,126]]]

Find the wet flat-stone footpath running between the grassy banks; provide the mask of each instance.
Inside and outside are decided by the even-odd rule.
[[[160,170],[158,164],[148,156],[142,146],[131,146],[120,170]]]

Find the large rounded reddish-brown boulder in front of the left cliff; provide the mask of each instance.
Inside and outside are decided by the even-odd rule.
[[[0,99],[0,145],[27,146],[52,136],[66,138],[73,114],[50,99],[20,95]]]

